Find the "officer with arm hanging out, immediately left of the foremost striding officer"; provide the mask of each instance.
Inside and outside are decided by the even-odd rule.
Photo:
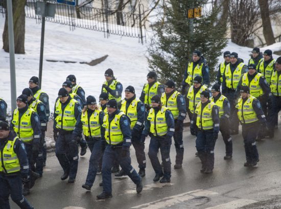
[[[77,119],[72,139],[79,138],[83,131],[91,151],[87,179],[82,185],[84,189],[91,190],[102,158],[102,148],[105,147],[104,127],[102,127],[104,112],[98,109],[96,98],[93,96],[87,97],[86,105]]]

